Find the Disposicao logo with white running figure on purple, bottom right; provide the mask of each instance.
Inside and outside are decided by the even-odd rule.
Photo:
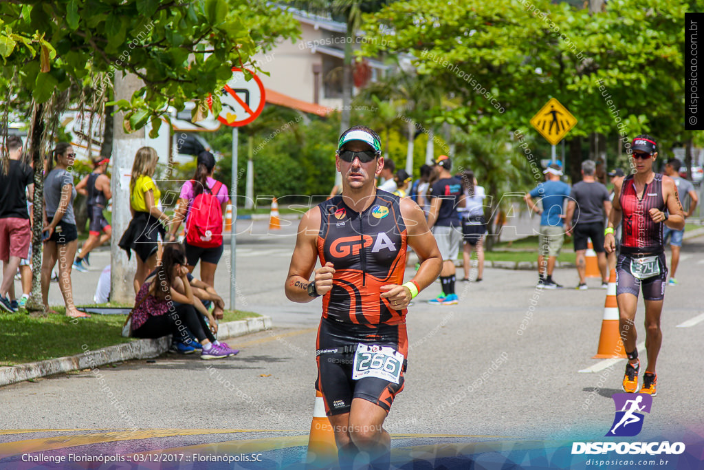
[[[643,429],[643,413],[650,413],[653,397],[647,393],[615,393],[612,396],[616,407],[616,416],[605,437],[632,437]],[[574,454],[606,454],[615,451],[617,454],[681,454],[684,443],[672,443],[667,440],[662,443],[614,443],[591,442],[572,443]]]

